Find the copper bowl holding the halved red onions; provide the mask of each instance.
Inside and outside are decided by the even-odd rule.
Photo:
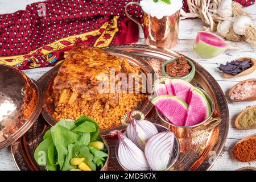
[[[154,123],[154,125],[156,126],[156,128],[158,129],[159,132],[168,130],[167,127],[164,127],[162,125],[158,125],[156,123]],[[115,144],[115,156],[117,158],[117,161],[118,161],[119,165],[122,167],[123,170],[129,171],[128,169],[126,169],[122,165],[122,163],[118,159],[118,146],[119,146],[119,140],[117,141],[117,144]],[[179,144],[179,140],[177,139],[176,136],[175,136],[175,143],[174,143],[174,151],[172,152],[172,155],[173,155],[172,160],[170,161],[169,166],[164,171],[174,171],[175,170],[174,166],[175,166],[175,163],[176,163],[176,161],[177,161],[177,159],[179,158],[179,155],[180,155],[180,144]]]

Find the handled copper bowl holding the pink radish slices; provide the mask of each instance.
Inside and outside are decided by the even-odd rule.
[[[214,127],[218,126],[221,122],[221,118],[212,118],[212,115],[214,114],[215,110],[215,105],[213,98],[210,96],[208,92],[206,92],[203,89],[197,88],[201,90],[205,97],[207,97],[207,100],[210,104],[210,108],[212,109],[209,117],[205,119],[205,121],[198,123],[197,125],[192,125],[192,126],[178,126],[174,125],[171,121],[169,121],[162,113],[156,110],[156,114],[158,114],[158,117],[163,121],[164,123],[167,123],[168,127],[170,130],[174,132],[174,134],[179,137],[179,138],[193,138],[196,137],[205,131],[212,130]]]

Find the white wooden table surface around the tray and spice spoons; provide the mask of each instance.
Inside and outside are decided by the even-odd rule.
[[[37,2],[38,0],[0,0],[0,14],[13,13],[17,10],[25,9],[28,3]],[[256,5],[246,7],[246,11],[253,14],[254,19],[256,19]],[[256,49],[252,49],[247,43],[234,43],[230,44],[234,46],[239,46],[242,49],[239,50],[227,50],[224,54],[215,57],[213,59],[202,59],[193,51],[193,40],[196,38],[196,32],[198,30],[203,30],[203,23],[200,19],[188,19],[181,20],[180,22],[180,33],[179,33],[179,43],[173,49],[174,51],[183,53],[184,55],[191,57],[191,59],[198,61],[207,71],[213,75],[213,77],[218,81],[224,93],[227,93],[233,85],[237,82],[246,80],[249,78],[256,78],[256,71],[251,73],[249,76],[243,76],[238,78],[223,78],[221,73],[218,72],[217,64],[225,64],[226,61],[232,61],[238,57],[247,56],[256,59]],[[143,34],[141,31],[140,39],[138,44],[144,44]],[[38,80],[44,73],[46,73],[51,68],[36,68],[24,71],[28,77]],[[230,102],[229,106],[229,116],[230,116],[230,126],[228,139],[224,150],[221,152],[220,157],[217,162],[212,167],[212,170],[236,170],[241,167],[253,166],[256,167],[256,162],[251,163],[241,163],[233,160],[230,156],[231,149],[238,142],[238,140],[246,137],[247,135],[256,133],[256,130],[237,130],[234,127],[234,118],[246,107],[256,105],[254,102]],[[7,147],[0,151],[0,170],[17,170],[13,156],[11,155],[10,147]]]

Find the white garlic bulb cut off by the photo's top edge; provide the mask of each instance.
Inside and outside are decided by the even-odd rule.
[[[222,18],[230,17],[233,14],[232,0],[222,0],[218,5],[217,14]]]

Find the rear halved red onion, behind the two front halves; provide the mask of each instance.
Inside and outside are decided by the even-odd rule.
[[[147,140],[158,133],[156,126],[147,120],[135,120],[130,118],[130,124],[126,128],[127,137],[144,151]]]

